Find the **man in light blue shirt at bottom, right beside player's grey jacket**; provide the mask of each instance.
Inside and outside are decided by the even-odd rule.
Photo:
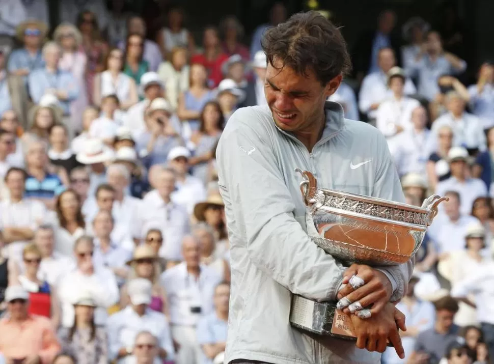
[[[214,289],[214,312],[197,323],[197,342],[201,345],[201,364],[212,364],[227,343],[230,284],[219,283]],[[215,360],[216,361],[216,360]]]

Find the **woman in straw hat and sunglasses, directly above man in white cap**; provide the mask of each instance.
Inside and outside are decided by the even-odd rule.
[[[161,271],[153,248],[147,244],[139,245],[134,250],[132,260],[127,264],[132,267],[129,281],[133,278],[145,278],[153,284],[153,297],[149,308],[168,315],[167,295],[159,282]],[[129,295],[127,287],[124,285],[120,293],[120,308],[124,309],[128,304]]]

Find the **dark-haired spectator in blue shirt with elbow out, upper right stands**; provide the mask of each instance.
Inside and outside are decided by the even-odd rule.
[[[410,76],[418,78],[418,93],[432,101],[440,92],[437,79],[442,75],[459,74],[466,69],[466,62],[445,52],[441,36],[430,31],[415,62],[410,65]]]

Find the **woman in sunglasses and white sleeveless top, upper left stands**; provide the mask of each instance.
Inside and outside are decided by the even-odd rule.
[[[135,80],[122,72],[124,53],[119,48],[113,48],[108,52],[104,63],[104,71],[94,78],[93,103],[101,106],[102,95],[117,95],[120,108],[127,110],[139,101],[139,95]]]

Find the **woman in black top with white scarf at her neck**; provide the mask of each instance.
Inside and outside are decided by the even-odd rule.
[[[64,176],[67,179],[65,185],[69,184],[68,176],[75,167],[81,165],[75,158],[75,153],[69,148],[69,136],[65,125],[53,125],[50,130],[50,149],[48,149],[48,158],[52,165],[63,168]]]

